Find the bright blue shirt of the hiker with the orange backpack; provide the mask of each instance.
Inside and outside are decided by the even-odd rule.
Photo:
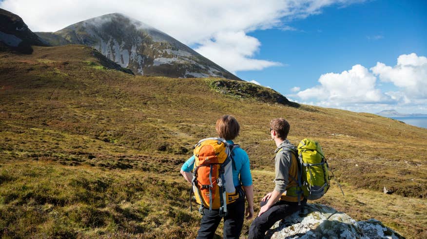
[[[233,144],[232,140],[227,140],[227,143]],[[242,186],[251,186],[252,185],[252,175],[251,175],[251,168],[249,164],[249,156],[240,147],[236,147],[233,149],[234,156],[234,165],[235,169],[233,167],[233,183],[234,187],[237,187],[240,185],[240,181],[242,182]],[[191,156],[181,167],[181,170],[184,172],[190,172],[193,171],[194,167],[194,155]],[[240,174],[240,179],[239,179]]]

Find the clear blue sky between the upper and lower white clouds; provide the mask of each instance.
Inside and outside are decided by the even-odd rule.
[[[322,74],[341,73],[357,64],[366,68],[374,67],[377,62],[395,66],[402,54],[427,56],[425,0],[376,0],[344,8],[330,6],[318,15],[292,20],[288,26],[292,31],[269,29],[249,33],[262,43],[257,57],[281,62],[284,66],[238,71],[237,75],[271,86],[300,102],[304,101],[294,96],[291,88],[303,90],[319,85]],[[427,81],[427,76],[424,77]],[[392,83],[379,80],[376,83],[382,92],[399,91],[399,87]],[[315,101],[312,103],[316,104]],[[427,113],[426,105],[399,105],[396,102],[352,106],[340,108],[371,113],[383,108],[397,108],[404,113]]]

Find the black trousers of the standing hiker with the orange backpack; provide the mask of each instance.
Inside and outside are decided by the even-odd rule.
[[[227,205],[227,216],[224,217],[224,238],[238,239],[243,227],[245,216],[245,197],[239,197],[236,202]],[[222,217],[218,215],[218,210],[203,209],[203,217],[200,222],[200,229],[197,232],[198,239],[214,238],[216,228]]]

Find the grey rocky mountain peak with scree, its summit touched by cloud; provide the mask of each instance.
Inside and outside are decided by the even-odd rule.
[[[52,46],[93,47],[136,75],[240,80],[173,37],[118,13],[81,21],[55,33],[36,34]]]

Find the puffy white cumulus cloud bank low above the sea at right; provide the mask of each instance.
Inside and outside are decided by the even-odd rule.
[[[320,85],[292,96],[302,103],[353,111],[375,113],[387,108],[405,113],[426,111],[427,58],[415,53],[400,55],[394,67],[381,62],[369,70],[355,65],[341,73],[323,74],[318,82]],[[379,82],[392,83],[396,90],[382,93]]]

